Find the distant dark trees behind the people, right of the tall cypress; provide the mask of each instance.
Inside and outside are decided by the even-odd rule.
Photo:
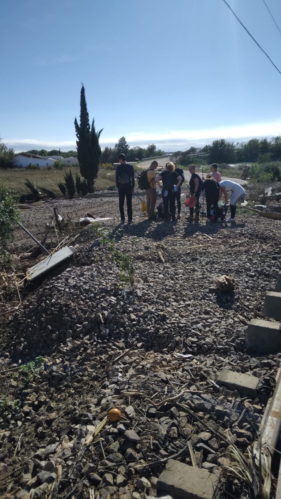
[[[162,149],[156,149],[155,144],[149,144],[146,148],[129,147],[125,137],[121,137],[114,147],[104,147],[101,151],[100,163],[116,163],[117,156],[120,153],[125,154],[127,162],[163,156],[165,154]]]

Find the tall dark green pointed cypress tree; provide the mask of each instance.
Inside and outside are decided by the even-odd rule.
[[[92,120],[90,127],[84,85],[82,85],[80,92],[80,124],[78,125],[75,118],[74,125],[80,174],[87,181],[89,192],[92,193],[101,155],[99,136],[102,129],[95,130],[94,120]]]

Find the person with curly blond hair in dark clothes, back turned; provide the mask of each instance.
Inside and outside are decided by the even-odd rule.
[[[162,182],[162,187],[160,186],[160,180]],[[156,184],[161,189],[163,206],[164,206],[164,220],[169,221],[169,209],[171,213],[172,221],[175,221],[175,195],[174,186],[178,189],[182,178],[175,173],[174,164],[168,161],[165,164],[165,170],[161,172],[156,178]]]

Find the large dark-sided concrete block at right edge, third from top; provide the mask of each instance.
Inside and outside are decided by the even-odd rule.
[[[245,345],[253,352],[263,355],[281,352],[281,323],[251,319]]]

